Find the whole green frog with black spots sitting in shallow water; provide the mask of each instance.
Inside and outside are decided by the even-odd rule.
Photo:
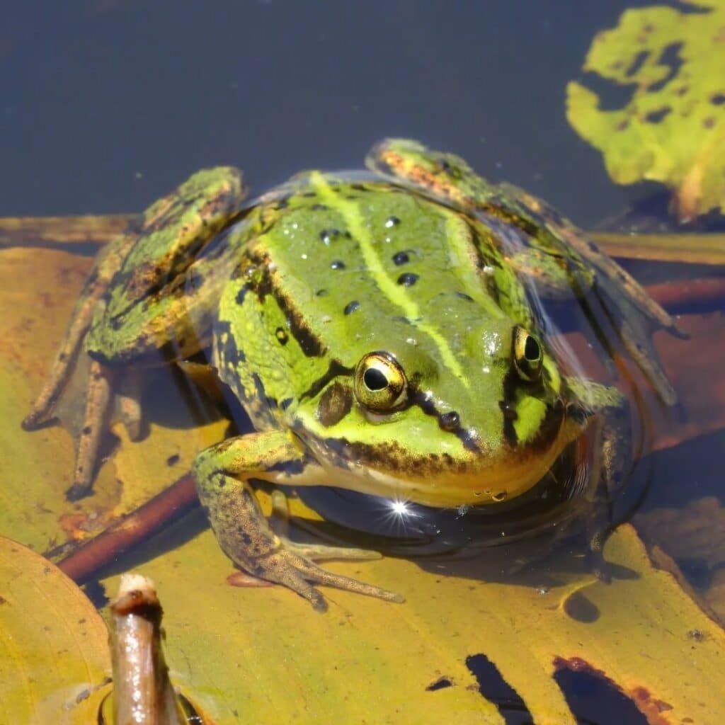
[[[86,496],[111,407],[137,437],[144,369],[207,351],[253,430],[196,455],[202,507],[236,567],[320,611],[320,586],[402,596],[319,563],[376,552],[293,542],[273,529],[260,481],[335,486],[393,507],[495,511],[592,435],[600,463],[581,498],[604,576],[608,531],[592,512],[626,474],[626,399],[564,369],[541,299],[602,305],[666,406],[676,394],[652,336],[684,333],[526,191],[407,139],[378,142],[365,165],[300,173],[254,202],[239,170],[217,167],[155,202],[99,253],[25,428],[49,421],[74,360],[87,355],[67,492]]]

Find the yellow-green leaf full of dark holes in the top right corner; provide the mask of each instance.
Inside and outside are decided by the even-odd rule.
[[[566,115],[617,183],[660,181],[681,221],[725,212],[725,1],[630,9],[597,34],[584,70],[631,98],[607,108],[571,81]]]

